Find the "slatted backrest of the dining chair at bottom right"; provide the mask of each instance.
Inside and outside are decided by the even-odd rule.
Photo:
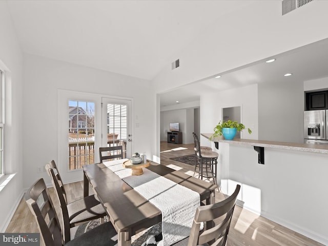
[[[216,246],[226,245],[230,222],[239,190],[240,186],[237,185],[234,193],[227,199],[197,208],[188,240],[188,246],[202,245],[204,243]],[[219,219],[220,221],[216,226],[211,229],[199,231],[201,222],[206,223],[214,219]]]

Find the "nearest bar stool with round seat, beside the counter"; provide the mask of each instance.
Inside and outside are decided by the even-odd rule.
[[[195,138],[196,142],[196,155],[195,155],[195,172],[197,165],[199,165],[199,177],[204,178],[212,178],[214,185],[217,186],[218,191],[220,191],[219,186],[216,181],[217,174],[217,158],[219,154],[217,152],[212,151],[203,151],[200,148],[198,137]],[[194,172],[194,173],[195,173]]]

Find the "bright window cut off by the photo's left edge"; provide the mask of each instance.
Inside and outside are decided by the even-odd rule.
[[[5,113],[5,79],[0,70],[0,177],[5,173],[4,167],[4,113]]]

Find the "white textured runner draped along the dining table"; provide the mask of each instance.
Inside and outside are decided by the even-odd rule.
[[[131,176],[132,170],[122,166],[126,160],[104,161],[104,165],[161,211],[162,245],[172,245],[188,237],[200,205],[199,194],[148,169],[143,169],[144,174],[140,176]]]

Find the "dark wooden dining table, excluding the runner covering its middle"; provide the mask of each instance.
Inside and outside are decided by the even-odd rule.
[[[117,231],[118,245],[130,246],[131,236],[162,221],[162,212],[108,168],[108,163],[110,161],[83,166],[84,196],[89,195],[90,184]],[[197,192],[201,201],[199,206],[201,203],[211,204],[215,202],[216,185],[211,182],[206,182],[153,161],[150,161],[147,169],[182,187]],[[207,224],[207,226],[211,226],[211,224]]]

